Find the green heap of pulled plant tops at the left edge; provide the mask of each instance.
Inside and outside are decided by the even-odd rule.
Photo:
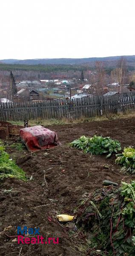
[[[16,178],[27,180],[25,172],[16,165],[8,153],[5,152],[5,146],[0,141],[0,180],[4,178]]]

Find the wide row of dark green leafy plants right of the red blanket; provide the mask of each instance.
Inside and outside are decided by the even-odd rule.
[[[85,153],[107,154],[110,157],[113,152],[117,153],[121,150],[121,144],[118,140],[112,140],[110,137],[102,137],[94,135],[92,138],[82,136],[78,140],[70,143],[72,147],[83,150]]]

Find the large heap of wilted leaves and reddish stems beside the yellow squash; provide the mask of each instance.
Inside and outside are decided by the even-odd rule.
[[[86,255],[135,256],[135,181],[96,190],[75,214],[89,244]]]

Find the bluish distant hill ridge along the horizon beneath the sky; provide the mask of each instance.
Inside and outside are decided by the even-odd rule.
[[[87,64],[95,61],[107,61],[108,64],[111,62],[118,61],[120,56],[113,57],[103,57],[103,58],[43,58],[43,59],[26,59],[26,60],[16,60],[16,59],[4,59],[0,60],[3,64],[26,64],[26,65],[38,65],[38,64],[69,64],[69,65],[80,65]],[[124,56],[128,65],[131,64],[135,67],[135,55]]]

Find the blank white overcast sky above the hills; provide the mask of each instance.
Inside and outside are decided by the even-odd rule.
[[[1,0],[0,59],[135,55],[135,0]]]

